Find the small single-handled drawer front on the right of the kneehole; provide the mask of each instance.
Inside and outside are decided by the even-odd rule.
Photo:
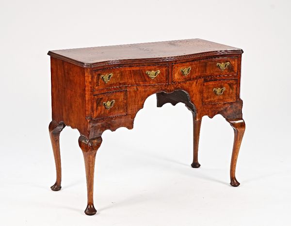
[[[203,105],[236,102],[237,79],[203,83]]]

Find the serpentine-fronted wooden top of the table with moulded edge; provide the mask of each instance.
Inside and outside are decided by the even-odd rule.
[[[202,53],[242,53],[242,49],[202,39],[110,45],[49,51],[49,55],[80,66],[91,66],[100,62],[118,63],[120,60],[167,59]]]

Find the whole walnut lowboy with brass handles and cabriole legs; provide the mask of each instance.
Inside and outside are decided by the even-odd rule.
[[[221,114],[234,129],[230,184],[238,186],[235,168],[245,124],[240,99],[242,49],[201,39],[49,51],[52,121],[49,124],[57,179],[61,189],[59,136],[65,125],[77,128],[84,155],[88,205],[94,215],[95,156],[102,133],[132,129],[148,96],[157,105],[182,102],[193,113],[194,159],[199,167],[201,119]]]

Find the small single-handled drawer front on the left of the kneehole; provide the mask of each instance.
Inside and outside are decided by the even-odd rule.
[[[107,92],[94,96],[93,118],[107,118],[127,114],[127,91]]]

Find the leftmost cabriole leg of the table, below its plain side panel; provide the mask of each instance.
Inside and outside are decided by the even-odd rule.
[[[60,133],[65,128],[65,123],[61,121],[60,123],[56,121],[51,121],[49,123],[49,136],[53,151],[53,156],[56,164],[57,179],[54,185],[50,188],[53,191],[61,190],[62,181],[62,168],[61,168],[61,154],[60,154]]]

